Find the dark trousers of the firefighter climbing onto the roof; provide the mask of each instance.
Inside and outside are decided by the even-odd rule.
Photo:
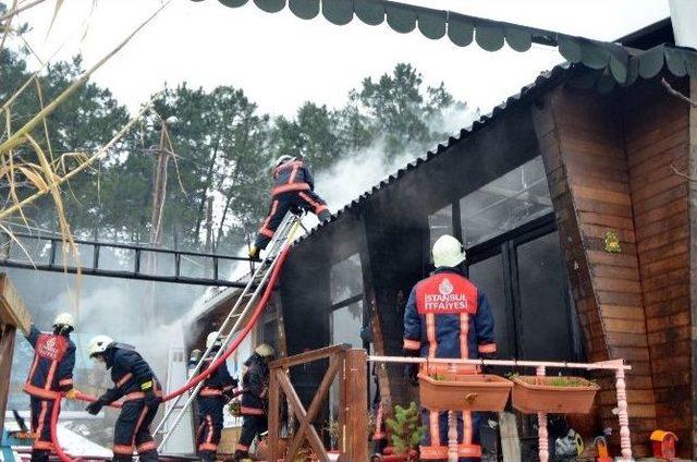
[[[283,221],[283,217],[292,208],[310,210],[320,219],[327,221],[331,214],[327,208],[327,203],[315,194],[314,191],[289,191],[286,193],[277,194],[271,198],[269,214],[264,220],[259,233],[254,245],[264,250],[273,238],[273,233]]]

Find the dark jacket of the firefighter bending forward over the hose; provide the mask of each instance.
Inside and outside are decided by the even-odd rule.
[[[107,390],[100,401],[109,404],[121,397],[125,397],[124,401],[143,399],[148,390],[154,390],[158,397],[162,394],[155,373],[133,346],[113,343],[103,356],[115,386]]]

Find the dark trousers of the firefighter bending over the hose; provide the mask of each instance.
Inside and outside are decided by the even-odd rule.
[[[150,435],[150,424],[157,414],[159,404],[152,408],[145,405],[144,400],[132,400],[123,403],[121,414],[113,428],[113,460],[133,460],[133,448],[142,461],[157,461],[157,445]]]

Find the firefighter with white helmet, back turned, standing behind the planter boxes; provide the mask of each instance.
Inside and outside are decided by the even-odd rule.
[[[452,235],[443,235],[432,248],[436,271],[416,283],[404,313],[404,352],[423,357],[496,357],[493,315],[487,297],[462,272],[463,245]],[[431,364],[429,373],[447,373],[449,365]],[[407,366],[409,380],[416,384],[418,367]],[[457,365],[457,374],[477,374],[474,365]],[[479,416],[457,412],[458,460],[481,458]],[[421,409],[426,436],[420,446],[421,460],[448,458],[448,412]]]

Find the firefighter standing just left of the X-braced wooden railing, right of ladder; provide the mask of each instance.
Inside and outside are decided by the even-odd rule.
[[[269,363],[273,355],[273,348],[262,343],[244,363],[247,369],[242,376],[242,434],[233,461],[247,459],[254,438],[268,428]]]

